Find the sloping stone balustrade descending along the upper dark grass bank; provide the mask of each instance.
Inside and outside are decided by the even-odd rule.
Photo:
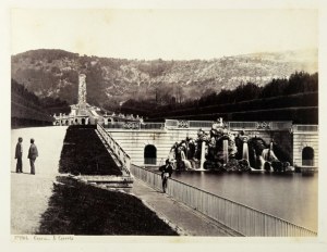
[[[114,139],[111,137],[111,135],[106,131],[106,129],[97,124],[97,130],[101,135],[101,137],[106,140],[110,149],[112,150],[113,154],[118,158],[118,160],[121,162],[123,168],[130,174],[131,171],[131,158],[124,150],[118,144],[118,142],[114,141]]]

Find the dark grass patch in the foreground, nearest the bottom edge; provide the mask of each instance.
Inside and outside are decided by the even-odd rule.
[[[136,197],[57,179],[39,235],[178,235]]]

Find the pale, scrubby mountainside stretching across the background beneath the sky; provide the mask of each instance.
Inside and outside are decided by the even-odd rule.
[[[33,50],[12,55],[12,78],[39,97],[77,100],[77,75],[86,74],[87,101],[117,109],[126,100],[158,104],[196,99],[252,81],[264,86],[295,71],[317,72],[317,51],[255,53],[193,61],[145,61]]]

